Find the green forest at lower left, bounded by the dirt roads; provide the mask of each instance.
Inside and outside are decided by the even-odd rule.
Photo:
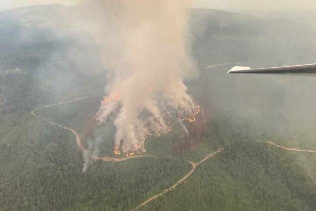
[[[74,135],[31,114],[0,127],[0,210],[129,210],[187,173],[181,159],[84,160]]]

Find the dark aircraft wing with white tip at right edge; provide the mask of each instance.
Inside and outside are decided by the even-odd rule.
[[[275,75],[304,75],[316,76],[316,64],[295,65],[285,67],[270,67],[251,69],[250,67],[233,67],[228,73],[236,74],[275,74]]]

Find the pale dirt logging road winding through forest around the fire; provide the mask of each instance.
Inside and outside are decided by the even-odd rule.
[[[221,65],[226,65],[226,64],[221,64]],[[51,104],[51,105],[47,105],[47,106],[44,106],[44,107],[51,107],[51,106],[58,106],[58,105],[62,105],[62,104],[69,104],[69,103],[73,103],[73,102],[77,102],[77,101],[80,101],[80,100],[84,100],[84,99],[89,99],[89,98],[96,98],[97,96],[88,96],[88,97],[82,97],[82,98],[77,98],[77,99],[74,99],[74,100],[71,100],[71,101],[65,101],[65,102],[61,102],[61,103],[57,103],[57,104]],[[40,107],[41,108],[41,107]],[[63,125],[60,125],[56,122],[53,122],[43,116],[40,116],[38,114],[36,114],[36,110],[40,109],[40,108],[37,108],[37,109],[34,109],[31,111],[31,114],[37,118],[40,118],[44,121],[46,121],[47,123],[51,124],[51,125],[54,125],[54,126],[58,126],[58,127],[61,127],[63,129],[66,129],[66,130],[69,130],[71,131],[75,136],[76,136],[76,141],[77,141],[77,145],[79,146],[79,148],[82,150],[82,151],[86,151],[85,147],[82,145],[81,143],[81,138],[78,134],[78,132],[72,128],[69,128],[69,127],[65,127]],[[309,152],[309,153],[316,153],[316,150],[310,150],[310,149],[298,149],[298,148],[289,148],[289,147],[283,147],[283,146],[280,146],[276,143],[274,143],[273,141],[264,141],[265,143],[267,144],[270,144],[272,146],[275,146],[275,147],[278,147],[278,148],[281,148],[281,149],[284,149],[284,150],[288,150],[288,151],[296,151],[296,152]],[[210,158],[213,158],[215,155],[217,155],[218,153],[222,152],[224,150],[224,148],[216,151],[216,152],[213,152],[211,154],[208,154],[205,158],[203,158],[201,161],[199,161],[198,163],[194,163],[192,161],[187,161],[191,164],[192,168],[191,170],[186,174],[184,175],[182,178],[180,178],[174,185],[172,185],[171,187],[169,187],[168,189],[165,189],[163,190],[161,193],[149,198],[148,200],[146,200],[145,202],[143,202],[142,204],[138,205],[137,207],[135,207],[134,209],[132,209],[131,211],[136,211],[138,210],[139,208],[143,207],[144,205],[150,203],[151,201],[157,199],[159,196],[175,189],[179,184],[181,184],[185,179],[187,179],[189,176],[192,175],[192,173],[196,170],[196,167],[199,166],[200,164],[202,164],[203,162],[205,162],[206,160],[210,159]],[[151,155],[134,155],[134,156],[128,156],[128,157],[123,157],[123,158],[113,158],[113,157],[95,157],[93,156],[92,159],[93,160],[101,160],[101,161],[104,161],[104,162],[122,162],[122,161],[125,161],[125,160],[129,160],[129,159],[136,159],[136,158],[142,158],[142,157],[154,157],[154,158],[157,158],[155,156],[151,156]]]

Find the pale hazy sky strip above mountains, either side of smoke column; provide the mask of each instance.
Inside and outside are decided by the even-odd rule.
[[[31,4],[73,4],[76,1],[78,0],[0,0],[0,10],[16,6],[26,6]],[[207,7],[228,10],[316,10],[316,0],[195,0],[194,7]]]

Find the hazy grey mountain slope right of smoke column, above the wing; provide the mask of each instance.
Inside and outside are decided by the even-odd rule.
[[[315,60],[316,32],[286,19],[193,9],[193,54],[199,65],[243,62],[266,66]],[[304,56],[303,56],[304,55]]]

